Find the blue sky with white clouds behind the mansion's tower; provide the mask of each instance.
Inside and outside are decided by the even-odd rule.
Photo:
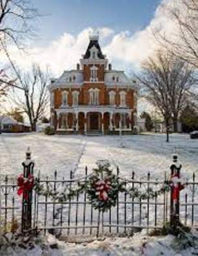
[[[10,48],[23,68],[37,62],[53,76],[72,69],[86,51],[88,35],[99,31],[104,54],[114,68],[126,72],[139,67],[156,47],[151,30],[171,30],[162,5],[168,0],[32,0],[39,12],[37,36],[28,54]]]

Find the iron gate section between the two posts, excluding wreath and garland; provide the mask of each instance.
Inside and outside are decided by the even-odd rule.
[[[119,192],[116,204],[107,211],[95,209],[86,191],[66,198],[68,189],[83,183],[91,175],[85,168],[81,179],[74,179],[72,172],[70,180],[57,179],[55,171],[54,180],[48,177],[37,180],[37,187],[43,191],[38,192],[35,200],[34,228],[45,233],[47,230],[52,233],[64,230],[67,235],[129,234],[137,229],[161,228],[168,220],[168,192],[161,189],[166,174],[161,181],[152,180],[150,173],[141,180],[135,179],[135,172],[132,172],[131,178],[126,180],[119,176],[117,168],[116,176],[123,181],[124,188],[130,187],[132,193]]]

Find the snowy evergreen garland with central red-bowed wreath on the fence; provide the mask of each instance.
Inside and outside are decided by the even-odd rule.
[[[145,187],[144,190],[141,190],[137,187],[130,187],[130,185],[126,185],[127,180],[112,173],[108,161],[99,160],[96,164],[97,168],[93,170],[93,174],[87,176],[86,180],[78,181],[76,185],[60,186],[54,191],[54,187],[50,183],[45,187],[45,184],[35,180],[34,190],[41,196],[50,196],[56,202],[72,200],[75,196],[86,192],[94,209],[99,209],[99,211],[107,211],[115,206],[119,192],[125,192],[131,198],[145,200],[153,199],[170,191],[170,181],[164,182],[159,189]]]

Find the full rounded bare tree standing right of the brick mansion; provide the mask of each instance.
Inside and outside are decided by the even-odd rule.
[[[193,70],[170,52],[157,51],[142,64],[137,79],[144,97],[163,115],[166,128],[173,121],[177,132],[179,114],[187,103],[187,92],[195,84]]]

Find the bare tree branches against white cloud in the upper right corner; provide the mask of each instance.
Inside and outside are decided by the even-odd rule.
[[[164,3],[164,12],[173,22],[172,36],[155,31],[155,38],[170,52],[198,68],[198,1],[172,0]]]

